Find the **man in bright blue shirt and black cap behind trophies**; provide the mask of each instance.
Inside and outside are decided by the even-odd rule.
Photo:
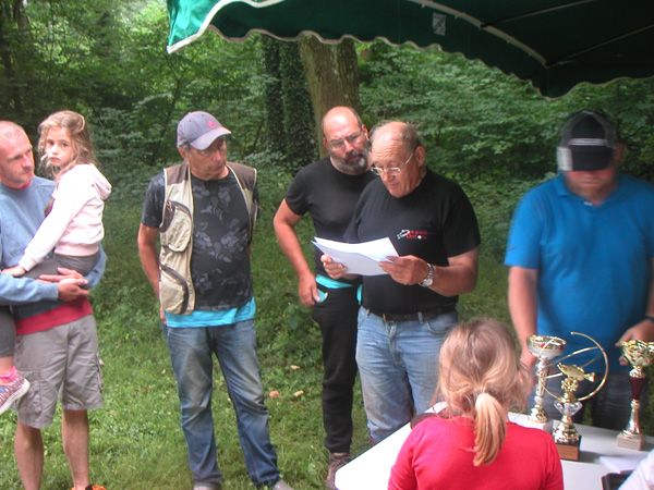
[[[618,171],[622,150],[604,115],[574,114],[561,134],[560,175],[519,204],[505,260],[522,360],[529,367],[536,360],[526,350],[532,334],[562,338],[566,354],[592,345],[572,331],[597,341],[607,353],[609,375],[592,399],[593,424],[614,430],[625,428],[631,400],[618,344],[654,341],[654,187]],[[580,383],[578,397],[603,378],[603,363],[593,362],[596,354],[569,359],[586,372],[600,372],[594,382]],[[547,388],[556,394],[555,384]],[[549,396],[545,409],[559,418]],[[582,417],[583,409],[576,420]]]

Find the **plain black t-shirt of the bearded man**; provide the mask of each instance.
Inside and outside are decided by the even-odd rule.
[[[343,241],[343,234],[362,191],[373,180],[373,172],[349,175],[334,168],[329,158],[323,158],[304,167],[289,187],[286,201],[291,211],[311,216],[316,236]],[[314,269],[327,275],[320,262],[323,253],[314,247]]]

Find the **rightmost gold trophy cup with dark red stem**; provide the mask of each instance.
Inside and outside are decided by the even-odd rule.
[[[620,448],[640,451],[644,437],[640,430],[640,395],[647,382],[645,368],[654,362],[654,342],[630,340],[620,342],[622,356],[631,365],[629,382],[631,383],[631,415],[627,428],[618,434],[617,444]]]

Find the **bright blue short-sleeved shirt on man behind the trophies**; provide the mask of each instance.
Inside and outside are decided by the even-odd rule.
[[[518,205],[505,264],[538,271],[540,334],[565,339],[569,354],[592,345],[570,332],[585,333],[606,350],[609,369],[619,370],[626,367],[615,343],[644,318],[652,257],[654,186],[618,173],[613,194],[593,206],[559,175]]]

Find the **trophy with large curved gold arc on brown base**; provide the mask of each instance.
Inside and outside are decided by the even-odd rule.
[[[608,358],[606,357],[606,352],[604,352],[602,346],[597,342],[595,342],[594,339],[590,338],[589,335],[586,335],[584,333],[579,333],[579,332],[570,332],[570,334],[584,336],[588,340],[590,340],[593,344],[595,344],[594,347],[591,346],[591,347],[580,348],[565,357],[561,357],[559,359],[559,363],[556,365],[558,370],[560,371],[560,375],[556,375],[556,376],[564,377],[564,380],[561,381],[561,390],[564,391],[564,395],[560,397],[557,397],[557,401],[554,404],[556,409],[561,413],[561,421],[556,427],[556,429],[554,429],[552,437],[554,438],[554,443],[556,444],[556,449],[558,450],[558,453],[559,453],[559,456],[561,457],[561,460],[577,461],[577,460],[579,460],[579,448],[581,445],[581,434],[574,427],[574,422],[572,421],[572,416],[581,409],[581,407],[582,407],[581,402],[590,399],[591,396],[595,396],[595,394],[597,394],[597,392],[602,389],[602,387],[604,387],[604,383],[606,382],[606,376],[608,375]],[[565,360],[565,359],[573,358],[578,354],[582,354],[582,353],[591,352],[591,351],[600,351],[600,354],[595,358],[591,359],[589,363],[584,364],[583,366],[577,366],[574,364],[564,364],[562,363],[562,360]],[[583,381],[583,380],[595,381],[595,372],[585,372],[584,367],[590,365],[591,363],[593,363],[595,359],[600,358],[601,356],[604,360],[604,376],[602,378],[602,381],[597,384],[597,387],[591,393],[589,393],[585,396],[582,396],[580,399],[577,399],[577,396],[574,395],[574,392],[579,388],[579,383],[581,381]],[[547,390],[547,388],[545,388],[545,391],[547,391],[547,393],[553,395]]]

